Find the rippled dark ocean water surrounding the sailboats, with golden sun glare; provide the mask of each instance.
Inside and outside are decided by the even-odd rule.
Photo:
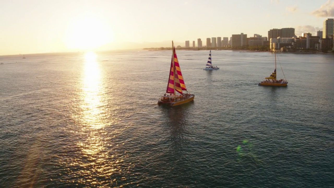
[[[277,54],[278,88],[272,53],[177,51],[195,100],[170,108],[171,53],[0,57],[1,186],[333,186],[333,54]]]

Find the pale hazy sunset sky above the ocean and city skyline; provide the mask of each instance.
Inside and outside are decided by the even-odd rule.
[[[0,0],[0,55],[169,47],[322,30],[334,0]],[[190,42],[191,43],[191,42]],[[157,46],[158,45],[158,46]]]

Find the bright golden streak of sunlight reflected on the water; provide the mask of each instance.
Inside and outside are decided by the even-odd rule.
[[[96,61],[96,54],[89,52],[85,55],[85,68],[83,70],[81,104],[82,114],[79,116],[81,128],[80,135],[82,142],[78,142],[81,154],[73,163],[78,163],[82,168],[77,172],[80,180],[85,184],[101,185],[99,177],[108,177],[116,170],[115,161],[108,157],[108,133],[104,129],[107,120],[103,114],[106,113],[104,104],[104,88],[102,87],[102,73],[99,63]],[[107,183],[108,184],[108,183]]]

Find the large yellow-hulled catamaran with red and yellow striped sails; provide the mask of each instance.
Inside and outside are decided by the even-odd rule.
[[[172,61],[169,71],[169,80],[166,93],[158,101],[158,105],[176,106],[193,101],[195,95],[188,93],[184,84],[179,61],[176,56],[174,42],[172,41]],[[186,93],[183,93],[186,91]]]

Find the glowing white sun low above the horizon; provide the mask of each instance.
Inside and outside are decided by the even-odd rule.
[[[112,41],[112,32],[107,24],[102,19],[88,16],[73,20],[65,39],[67,48],[80,50],[93,50]]]

